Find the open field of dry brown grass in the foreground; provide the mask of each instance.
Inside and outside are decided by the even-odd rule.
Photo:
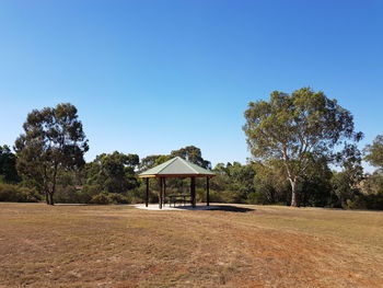
[[[0,287],[383,287],[383,212],[0,204]]]

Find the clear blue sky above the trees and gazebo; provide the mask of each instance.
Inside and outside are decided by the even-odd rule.
[[[0,143],[70,102],[88,160],[187,145],[245,162],[249,101],[310,85],[383,134],[383,1],[1,1]]]

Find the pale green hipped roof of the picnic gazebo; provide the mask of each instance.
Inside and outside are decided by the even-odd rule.
[[[196,165],[189,161],[175,157],[158,166],[149,169],[138,175],[139,177],[213,177],[209,170]]]

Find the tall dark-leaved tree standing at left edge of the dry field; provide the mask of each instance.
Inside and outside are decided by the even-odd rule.
[[[48,205],[54,205],[60,171],[80,169],[85,163],[88,139],[77,113],[69,103],[34,110],[23,125],[24,134],[15,141],[19,173],[35,183]]]

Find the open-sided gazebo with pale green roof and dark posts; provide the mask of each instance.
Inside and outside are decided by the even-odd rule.
[[[196,207],[196,177],[206,177],[206,194],[207,194],[207,206],[210,205],[209,199],[209,180],[216,176],[209,170],[206,170],[199,165],[196,165],[181,157],[175,157],[158,166],[149,169],[138,175],[140,178],[147,181],[147,193],[146,193],[146,207],[149,205],[149,178],[160,180],[160,201],[159,206],[162,209],[162,205],[165,200],[166,182],[169,177],[190,177],[190,203],[192,206]]]

